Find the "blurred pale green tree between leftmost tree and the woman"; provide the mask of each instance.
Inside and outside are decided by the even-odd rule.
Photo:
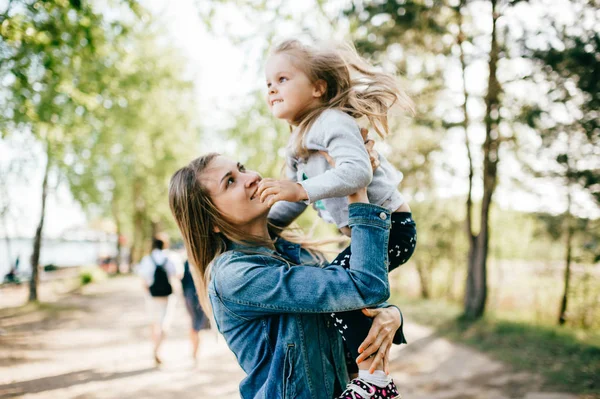
[[[94,146],[70,158],[66,176],[75,199],[112,218],[118,236],[132,238],[136,261],[153,232],[175,228],[168,178],[197,153],[199,128],[185,60],[159,40],[154,22],[133,28],[107,48],[112,66],[102,73],[102,96],[111,106],[88,114]]]

